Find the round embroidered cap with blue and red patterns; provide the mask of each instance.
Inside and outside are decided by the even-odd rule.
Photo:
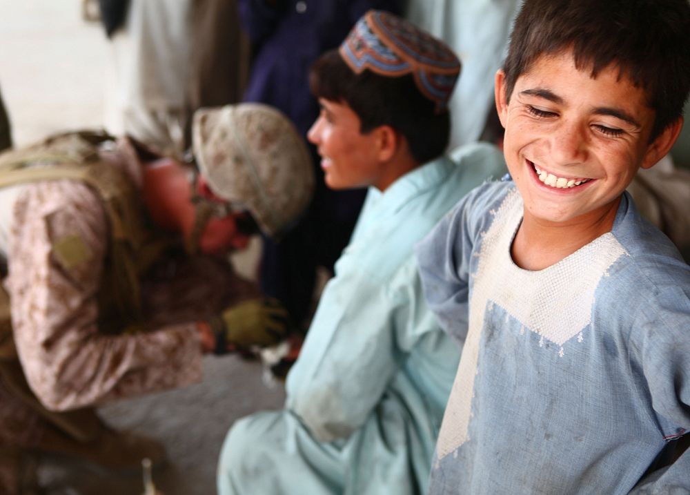
[[[412,73],[437,113],[446,109],[460,74],[460,60],[446,43],[381,10],[369,10],[357,21],[339,53],[355,74],[365,69],[386,77]]]

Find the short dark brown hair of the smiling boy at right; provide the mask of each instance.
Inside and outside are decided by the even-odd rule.
[[[682,115],[690,89],[688,0],[526,0],[504,64],[506,97],[541,55],[573,48],[592,77],[618,66],[655,110],[650,139]]]

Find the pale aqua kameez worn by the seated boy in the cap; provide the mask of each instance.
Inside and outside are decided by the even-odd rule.
[[[228,494],[420,494],[459,347],[422,295],[413,245],[504,173],[468,145],[371,189],[286,384],[286,409],[239,420],[219,461]]]

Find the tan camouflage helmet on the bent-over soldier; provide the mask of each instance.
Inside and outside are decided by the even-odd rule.
[[[248,210],[276,236],[311,200],[314,170],[304,139],[264,104],[201,108],[194,115],[194,155],[211,190]]]

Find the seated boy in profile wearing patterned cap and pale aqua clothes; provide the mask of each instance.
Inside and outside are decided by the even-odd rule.
[[[313,67],[322,113],[308,137],[326,184],[371,187],[288,375],[286,409],[244,418],[226,438],[222,495],[426,491],[459,349],[426,307],[413,245],[504,168],[486,144],[457,164],[440,156],[458,70],[442,43],[377,11]]]

